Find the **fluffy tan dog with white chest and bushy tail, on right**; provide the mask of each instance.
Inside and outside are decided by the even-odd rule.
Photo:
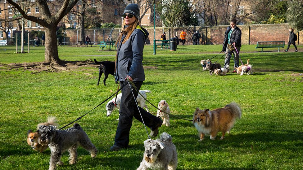
[[[199,141],[204,139],[205,134],[210,135],[211,140],[215,140],[218,132],[222,132],[220,140],[224,139],[225,133],[229,133],[236,119],[240,119],[241,115],[241,108],[235,102],[212,111],[197,108],[193,114],[193,124],[199,131]]]

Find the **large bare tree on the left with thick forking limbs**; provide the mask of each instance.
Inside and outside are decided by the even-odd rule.
[[[61,8],[54,15],[48,7],[47,1],[45,0],[35,0],[34,3],[39,7],[41,11],[41,16],[36,17],[28,15],[21,7],[19,1],[16,3],[14,0],[7,0],[11,5],[13,5],[20,14],[26,19],[34,21],[44,27],[45,30],[45,54],[44,63],[50,64],[60,64],[64,65],[64,62],[59,59],[58,46],[57,46],[57,25],[61,19],[75,6],[78,0],[62,0]]]

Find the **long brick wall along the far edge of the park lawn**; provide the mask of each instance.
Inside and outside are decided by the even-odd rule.
[[[285,41],[288,42],[289,37],[289,25],[288,24],[254,24],[254,25],[237,25],[242,31],[241,43],[244,44],[256,44],[257,41]],[[180,37],[180,32],[184,29],[187,32],[186,45],[192,43],[192,34],[198,31],[201,34],[200,44],[202,41],[206,41],[206,44],[222,44],[224,40],[224,32],[226,31],[227,25],[221,26],[206,26],[206,27],[174,27],[173,35],[177,33]],[[154,39],[154,28],[145,27],[149,32],[149,40],[153,44]],[[105,41],[111,33],[111,29],[87,29],[85,30],[85,36],[88,35],[91,41],[103,41],[103,30]],[[170,28],[168,27],[158,27],[156,28],[156,40],[160,39],[163,31],[166,33],[166,39],[170,38]],[[295,31],[296,32],[296,31]],[[78,30],[78,39],[79,39]],[[119,28],[115,28],[111,35],[113,41],[115,41],[120,33]],[[299,34],[299,35],[298,35]],[[75,44],[77,41],[77,29],[66,30],[67,37],[70,37],[70,42]],[[297,33],[298,41],[296,44],[301,44],[303,41],[303,32]],[[109,39],[110,41],[110,39]]]

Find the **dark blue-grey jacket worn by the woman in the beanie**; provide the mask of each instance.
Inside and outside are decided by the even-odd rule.
[[[125,38],[123,34],[117,47],[116,81],[125,81],[127,75],[131,76],[133,81],[145,80],[142,60],[144,42],[148,35],[147,30],[138,25],[129,39],[121,44]]]

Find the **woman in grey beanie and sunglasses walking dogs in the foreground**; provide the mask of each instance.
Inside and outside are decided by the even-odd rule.
[[[125,8],[122,16],[124,17],[122,32],[116,41],[117,56],[115,64],[115,80],[120,81],[121,87],[125,83],[127,85],[125,85],[121,90],[122,97],[120,103],[119,123],[116,130],[115,143],[110,148],[111,151],[128,147],[129,131],[133,123],[133,117],[140,122],[142,122],[143,118],[144,123],[152,130],[150,133],[152,137],[157,136],[158,128],[163,123],[161,119],[139,107],[142,114],[141,118],[138,107],[135,103],[135,98],[137,98],[138,92],[133,90],[133,97],[132,91],[127,82],[127,78],[130,81],[133,81],[139,90],[145,80],[142,66],[143,47],[145,39],[148,37],[149,33],[138,24],[139,6],[137,4],[129,4]]]

